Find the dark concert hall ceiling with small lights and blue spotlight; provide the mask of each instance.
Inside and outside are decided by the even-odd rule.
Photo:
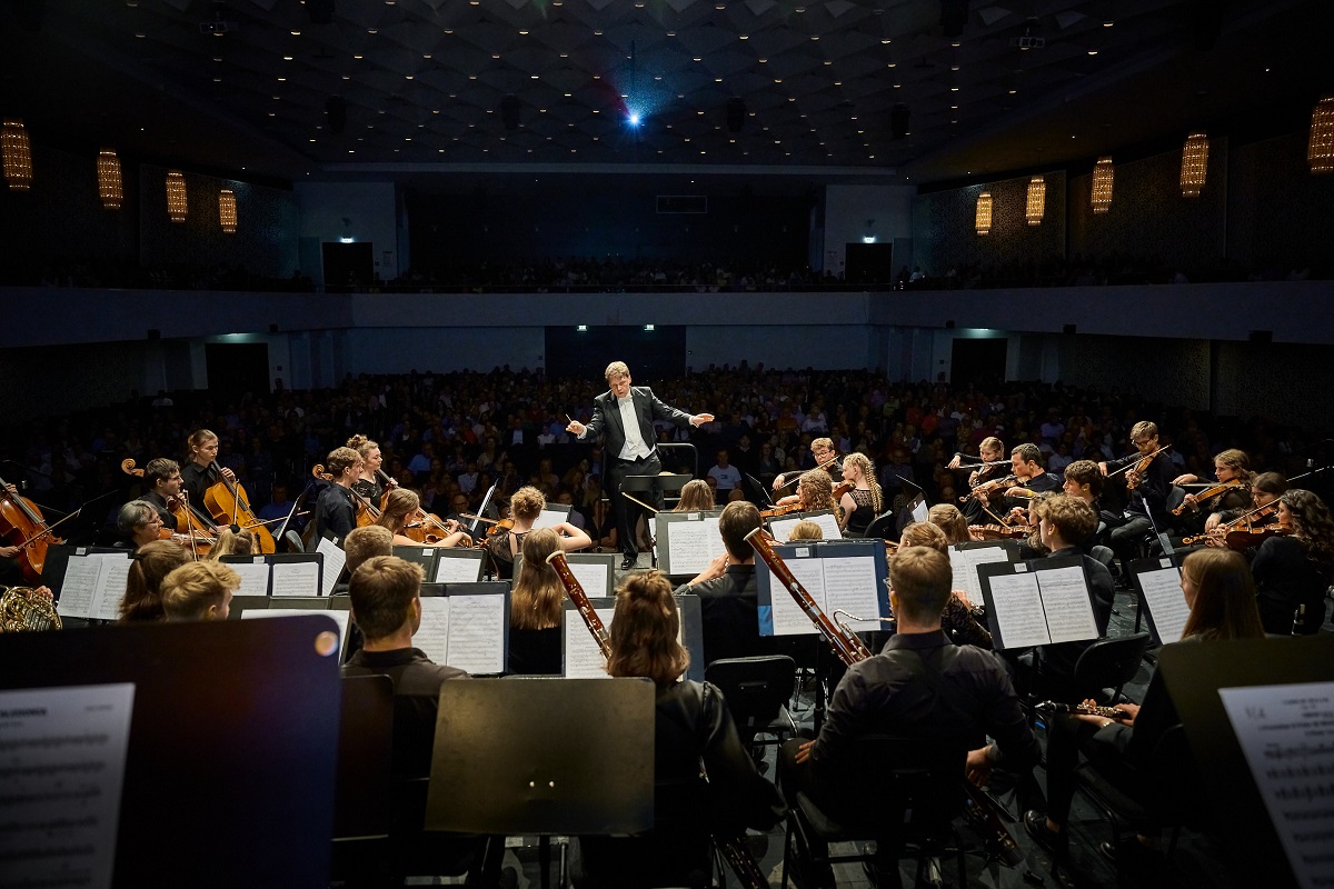
[[[1303,129],[1334,92],[1331,17],[1329,0],[5,0],[0,113],[39,145],[237,177],[940,183],[1193,128]]]

